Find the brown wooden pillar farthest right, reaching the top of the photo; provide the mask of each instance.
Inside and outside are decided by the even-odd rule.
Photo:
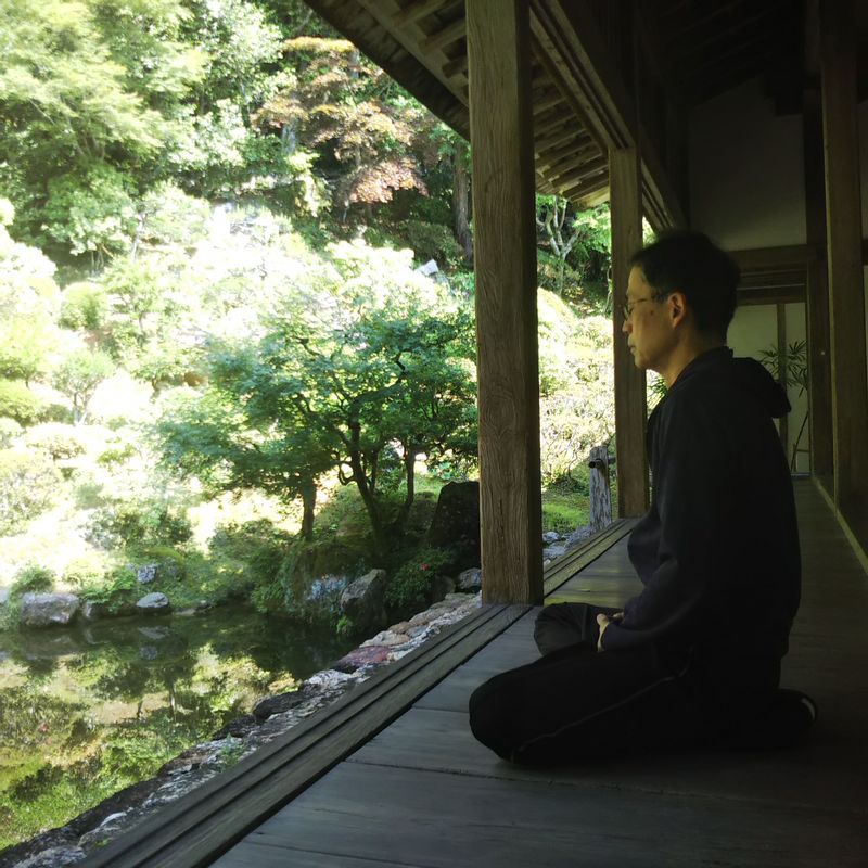
[[[845,518],[868,498],[868,384],[855,37],[853,0],[821,0],[820,87],[826,156],[834,500]]]

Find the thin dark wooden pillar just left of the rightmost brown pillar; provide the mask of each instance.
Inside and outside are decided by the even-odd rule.
[[[826,272],[826,181],[819,89],[806,88],[802,104],[806,240],[809,246],[822,252],[808,263],[805,297],[810,472],[833,498],[832,378],[829,355],[829,281]]]

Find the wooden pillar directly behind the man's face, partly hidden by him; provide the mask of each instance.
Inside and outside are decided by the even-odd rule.
[[[615,452],[617,511],[624,518],[648,509],[648,460],[644,449],[646,379],[633,361],[621,331],[621,305],[627,293],[630,256],[642,244],[642,199],[639,154],[635,148],[609,152],[612,214],[612,323],[615,356]]]

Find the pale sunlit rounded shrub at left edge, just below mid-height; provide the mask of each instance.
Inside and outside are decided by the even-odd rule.
[[[16,531],[53,501],[61,476],[44,452],[0,451],[0,534]]]

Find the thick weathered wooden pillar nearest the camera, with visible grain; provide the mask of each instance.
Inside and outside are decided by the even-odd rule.
[[[484,602],[542,601],[529,13],[467,0]]]

